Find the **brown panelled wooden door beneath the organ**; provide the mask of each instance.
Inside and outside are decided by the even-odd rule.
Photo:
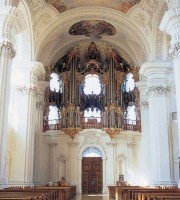
[[[102,193],[102,158],[82,159],[82,192]]]

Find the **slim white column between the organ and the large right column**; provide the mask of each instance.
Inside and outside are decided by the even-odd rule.
[[[140,91],[140,109],[141,109],[141,146],[139,152],[139,174],[138,182],[140,185],[149,185],[150,181],[150,146],[149,146],[149,102],[147,97],[147,82],[136,82]]]

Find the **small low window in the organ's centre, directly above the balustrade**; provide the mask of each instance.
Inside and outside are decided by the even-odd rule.
[[[98,108],[94,108],[93,110],[88,108],[84,111],[84,118],[85,122],[92,118],[97,119],[97,122],[101,122],[101,111]]]

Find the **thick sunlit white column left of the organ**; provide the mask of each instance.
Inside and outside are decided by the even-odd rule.
[[[36,62],[16,66],[13,71],[14,88],[12,110],[13,138],[10,185],[34,185],[34,136],[36,124],[37,76],[32,74]],[[19,78],[21,77],[21,78]],[[18,167],[17,167],[18,166]]]

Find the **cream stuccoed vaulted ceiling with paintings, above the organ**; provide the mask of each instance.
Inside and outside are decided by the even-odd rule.
[[[44,65],[53,65],[74,46],[84,48],[91,42],[102,51],[105,46],[116,49],[128,63],[138,67],[154,60],[156,51],[162,48],[158,27],[167,9],[165,0],[27,2],[35,57]]]

